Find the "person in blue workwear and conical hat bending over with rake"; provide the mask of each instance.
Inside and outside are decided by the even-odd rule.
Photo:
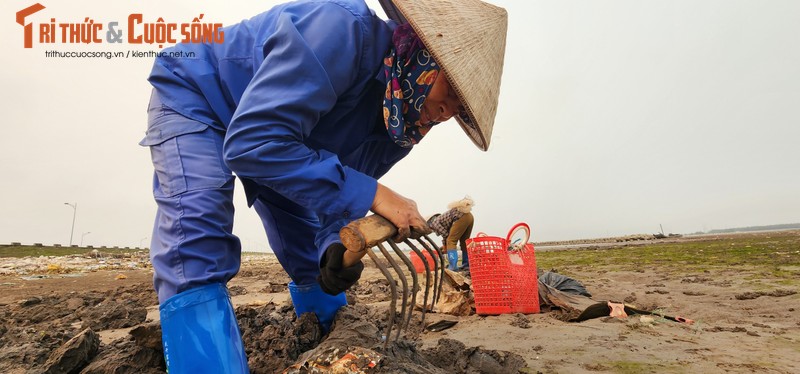
[[[324,331],[363,264],[339,229],[369,211],[429,232],[416,203],[378,183],[455,117],[486,150],[505,10],[478,0],[299,0],[155,59],[148,127],[158,206],[150,247],[170,373],[247,372],[227,282],[239,271],[234,175],[291,278],[295,312]],[[192,56],[192,57],[174,57]]]

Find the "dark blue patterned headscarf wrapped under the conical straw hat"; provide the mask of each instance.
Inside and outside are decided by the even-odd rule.
[[[383,120],[394,142],[411,148],[438,122],[420,123],[425,97],[439,74],[439,65],[409,24],[395,28],[392,49],[383,59],[386,94]]]

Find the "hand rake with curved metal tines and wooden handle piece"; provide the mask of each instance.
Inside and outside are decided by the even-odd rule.
[[[411,314],[416,305],[417,293],[420,290],[420,283],[417,277],[416,269],[408,256],[401,250],[395,242],[390,239],[397,234],[397,228],[391,222],[379,215],[371,215],[362,219],[356,220],[343,227],[339,232],[342,239],[342,244],[347,248],[344,256],[344,265],[351,266],[361,260],[366,254],[378,267],[381,274],[389,281],[389,289],[391,291],[391,300],[389,302],[388,321],[386,328],[386,340],[383,344],[384,350],[391,340],[392,329],[394,328],[395,321],[399,320],[397,326],[397,333],[394,340],[400,339],[400,334],[405,330],[411,322]],[[412,234],[413,235],[413,234]],[[425,293],[422,306],[421,323],[425,323],[425,312],[433,309],[436,302],[439,300],[442,292],[442,282],[444,281],[445,258],[441,249],[431,240],[428,235],[413,235],[411,239],[406,239],[405,243],[411,251],[417,254],[422,260],[425,267]],[[416,242],[416,244],[414,244]],[[405,268],[411,274],[411,289],[408,288],[408,280],[404,272],[404,266],[399,264],[395,257],[386,249],[389,246],[394,254],[400,258]],[[378,252],[373,248],[377,247]],[[425,256],[423,251],[427,252],[429,256]],[[389,267],[384,265],[380,260],[380,256],[386,259],[389,267],[394,270],[394,273],[400,279],[402,285],[402,297],[398,297],[397,281],[392,276],[392,271]],[[432,263],[428,263],[428,258],[432,259]],[[431,279],[433,278],[433,279]],[[431,291],[433,295],[429,299]],[[410,294],[410,298],[409,298]],[[397,300],[400,299],[400,317],[397,318]],[[410,300],[409,300],[410,299]],[[430,307],[428,300],[431,300]]]

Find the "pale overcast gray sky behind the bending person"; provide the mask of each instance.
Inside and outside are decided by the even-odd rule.
[[[155,214],[146,127],[149,58],[53,59],[23,49],[0,3],[0,243],[147,245]],[[435,128],[381,182],[423,215],[465,194],[476,230],[532,240],[800,222],[800,2],[494,0],[509,13],[494,136],[480,152],[454,122]],[[44,0],[32,20],[226,25],[277,1]],[[379,13],[377,1],[368,1]],[[443,20],[446,22],[446,20]],[[479,72],[476,78],[480,78]],[[234,232],[267,248],[237,191]],[[85,234],[91,232],[91,234]]]

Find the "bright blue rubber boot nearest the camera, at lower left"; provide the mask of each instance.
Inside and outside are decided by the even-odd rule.
[[[192,288],[170,297],[159,310],[167,372],[250,372],[225,286]]]

